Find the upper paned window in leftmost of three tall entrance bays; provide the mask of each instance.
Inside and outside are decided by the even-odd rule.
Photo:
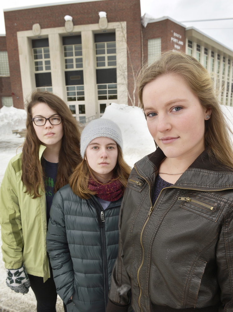
[[[49,47],[33,49],[35,71],[50,71]]]

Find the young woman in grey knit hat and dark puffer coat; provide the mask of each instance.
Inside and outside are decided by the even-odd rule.
[[[57,293],[68,311],[105,311],[118,251],[118,219],[131,168],[113,121],[91,121],[81,135],[83,158],[54,197],[47,250]]]

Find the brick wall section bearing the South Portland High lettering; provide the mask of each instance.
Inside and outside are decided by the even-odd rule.
[[[169,19],[149,23],[146,28],[142,26],[144,61],[148,58],[148,39],[161,37],[161,52],[175,49],[175,44],[180,47],[180,51],[185,52],[185,28],[170,21]],[[174,36],[174,33],[181,35],[181,38]],[[176,40],[182,41],[183,45]]]

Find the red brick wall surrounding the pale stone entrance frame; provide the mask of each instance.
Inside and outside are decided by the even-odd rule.
[[[126,21],[127,44],[134,73],[136,74],[141,64],[140,0],[83,2],[4,12],[11,86],[12,92],[15,94],[13,96],[15,107],[23,108],[17,32],[31,30],[32,25],[35,23],[39,23],[41,28],[64,27],[65,15],[73,17],[74,25],[98,23],[99,11],[107,12],[108,22]],[[128,55],[128,89],[131,97],[134,86],[133,81]],[[16,96],[19,98],[17,99]]]

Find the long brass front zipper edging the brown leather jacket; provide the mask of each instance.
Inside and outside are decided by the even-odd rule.
[[[141,178],[143,178],[143,179],[148,183],[148,185],[149,185],[149,191],[151,191],[150,183],[146,180],[145,177],[141,176],[141,175],[138,173],[138,171],[137,171],[137,169],[136,169],[135,166],[134,166],[134,168],[135,168],[137,174],[138,174]],[[167,188],[179,188],[179,187],[169,186],[169,187],[167,187]],[[151,216],[151,213],[153,212],[153,210],[154,210],[154,208],[155,208],[155,205],[156,205],[156,203],[158,202],[158,199],[159,199],[161,193],[162,193],[163,190],[165,190],[165,189],[166,189],[166,188],[163,188],[163,189],[160,191],[159,196],[157,197],[157,199],[156,199],[156,201],[155,201],[155,203],[154,203],[154,206],[153,206],[153,204],[152,204],[151,196],[150,196],[150,203],[151,203],[150,211],[149,211],[149,213],[148,213],[148,215],[147,215],[146,221],[145,221],[145,223],[144,223],[144,225],[143,225],[143,227],[142,227],[141,235],[140,235],[140,244],[141,244],[141,246],[142,246],[142,262],[141,262],[140,267],[139,267],[139,269],[138,269],[138,271],[137,271],[137,279],[138,279],[138,285],[139,285],[139,289],[140,289],[139,298],[138,298],[138,304],[139,304],[139,306],[140,306],[141,312],[143,312],[143,310],[142,310],[142,307],[141,307],[141,305],[140,305],[140,299],[141,299],[142,290],[141,290],[141,286],[140,286],[140,282],[139,282],[139,272],[140,272],[140,270],[141,270],[141,267],[142,267],[143,261],[144,261],[144,247],[143,247],[143,245],[142,245],[142,234],[143,234],[143,231],[144,231],[144,229],[145,229],[145,226],[146,226],[146,224],[147,224],[147,222],[148,222],[148,220],[149,220],[149,218],[150,218],[150,216]],[[183,189],[183,190],[193,190],[193,191],[202,191],[202,192],[203,192],[203,190],[196,189],[196,188],[179,188],[179,189]],[[220,192],[220,191],[231,190],[231,189],[233,189],[233,188],[224,188],[224,189],[219,189],[219,190],[204,190],[204,191],[205,191],[205,192]],[[150,194],[150,195],[151,195],[151,194]],[[181,197],[180,197],[180,198],[181,198]],[[183,197],[183,198],[189,198],[189,197]]]

